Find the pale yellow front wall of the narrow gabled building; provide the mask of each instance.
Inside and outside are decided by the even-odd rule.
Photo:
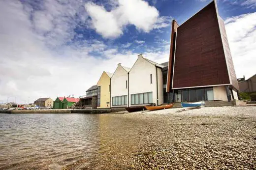
[[[110,102],[109,85],[110,85],[110,77],[105,72],[103,72],[97,83],[97,86],[100,86],[100,106],[97,108],[110,107],[110,103],[107,104],[107,102]]]

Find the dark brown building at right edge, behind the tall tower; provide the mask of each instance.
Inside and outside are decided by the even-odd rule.
[[[256,92],[256,74],[245,80],[245,77],[242,81],[238,82],[240,91],[242,92]]]

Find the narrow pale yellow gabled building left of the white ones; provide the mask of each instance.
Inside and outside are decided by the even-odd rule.
[[[97,83],[97,108],[110,108],[110,79],[112,73],[103,71]]]

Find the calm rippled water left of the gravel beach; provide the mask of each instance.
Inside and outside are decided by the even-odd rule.
[[[98,148],[96,114],[0,114],[0,169],[62,169]]]

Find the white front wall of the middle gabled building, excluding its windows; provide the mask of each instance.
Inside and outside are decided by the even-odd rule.
[[[128,72],[121,65],[118,65],[115,73],[111,77],[111,107],[112,97],[128,95],[126,81],[128,81]],[[124,105],[114,107],[124,107]]]

